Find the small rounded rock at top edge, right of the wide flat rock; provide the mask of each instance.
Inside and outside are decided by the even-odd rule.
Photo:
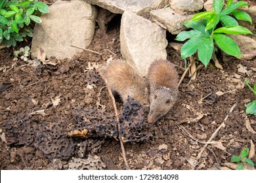
[[[171,8],[182,12],[195,12],[203,8],[203,0],[171,0]]]

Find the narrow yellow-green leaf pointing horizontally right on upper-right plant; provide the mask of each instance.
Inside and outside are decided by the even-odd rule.
[[[251,31],[246,29],[245,27],[242,26],[230,26],[230,27],[221,27],[219,29],[215,29],[214,33],[226,33],[226,34],[252,34]]]

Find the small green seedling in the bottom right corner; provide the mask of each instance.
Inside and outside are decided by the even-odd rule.
[[[253,161],[251,159],[246,158],[246,156],[249,154],[249,148],[244,148],[242,152],[240,153],[240,156],[232,156],[231,161],[238,163],[236,165],[237,170],[244,170],[244,165],[248,164],[250,167],[254,166]]]

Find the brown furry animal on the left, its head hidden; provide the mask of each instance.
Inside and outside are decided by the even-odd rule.
[[[128,63],[110,63],[102,74],[108,80],[110,88],[121,95],[123,102],[126,102],[129,96],[137,99],[142,105],[149,103],[146,80]]]

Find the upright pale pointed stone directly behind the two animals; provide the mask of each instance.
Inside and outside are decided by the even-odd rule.
[[[155,59],[166,59],[165,30],[133,12],[124,12],[121,18],[120,46],[123,58],[135,64],[146,76]]]

